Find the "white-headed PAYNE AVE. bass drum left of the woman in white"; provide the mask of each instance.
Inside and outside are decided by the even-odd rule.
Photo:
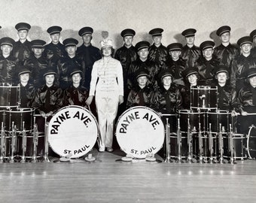
[[[50,120],[48,141],[59,156],[71,158],[85,156],[96,143],[99,127],[90,111],[71,105],[61,108]]]

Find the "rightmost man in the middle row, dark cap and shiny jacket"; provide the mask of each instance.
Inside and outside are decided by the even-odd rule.
[[[245,85],[245,72],[256,67],[256,60],[251,54],[251,43],[252,38],[250,36],[239,38],[237,41],[241,54],[233,59],[230,65],[230,84],[236,86],[236,92],[239,92],[239,89]]]

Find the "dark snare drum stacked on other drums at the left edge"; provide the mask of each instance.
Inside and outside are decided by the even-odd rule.
[[[0,84],[0,108],[17,108],[20,103],[20,86]]]

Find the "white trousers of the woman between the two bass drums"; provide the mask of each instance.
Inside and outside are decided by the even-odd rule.
[[[99,147],[112,147],[118,98],[118,92],[115,92],[115,94],[113,92],[96,92],[95,102],[100,134]]]

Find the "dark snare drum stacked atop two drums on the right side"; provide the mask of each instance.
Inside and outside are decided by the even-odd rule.
[[[197,110],[217,109],[217,86],[191,86],[190,107]]]

